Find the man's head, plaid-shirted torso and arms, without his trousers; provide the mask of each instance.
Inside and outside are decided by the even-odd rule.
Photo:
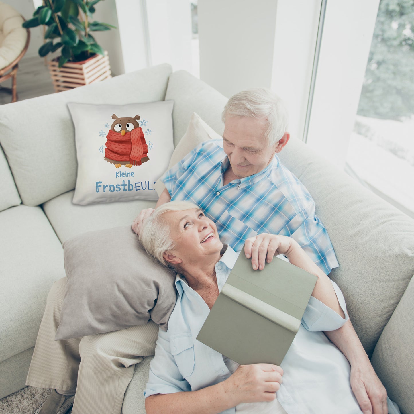
[[[199,205],[234,250],[259,233],[291,236],[329,274],[338,262],[313,199],[276,155],[289,141],[281,100],[266,89],[243,91],[229,99],[222,119],[222,142],[202,143],[161,177],[166,189],[156,207],[170,200]],[[137,233],[152,211],[138,215],[132,224]],[[351,321],[326,335],[351,364],[351,387],[362,411],[386,413],[385,388]]]

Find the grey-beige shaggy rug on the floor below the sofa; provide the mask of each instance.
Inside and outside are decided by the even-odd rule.
[[[50,393],[46,388],[23,388],[0,400],[0,414],[32,414]]]

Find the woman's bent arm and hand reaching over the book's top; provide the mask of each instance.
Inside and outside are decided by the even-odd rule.
[[[327,275],[313,262],[299,244],[291,237],[262,233],[250,237],[244,245],[247,258],[252,258],[253,269],[262,270],[265,262],[270,263],[274,255],[285,255],[292,265],[300,267],[318,277],[312,296],[345,318],[344,311],[339,305],[335,289]]]

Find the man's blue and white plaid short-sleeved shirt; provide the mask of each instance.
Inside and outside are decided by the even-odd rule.
[[[202,142],[162,177],[173,200],[187,200],[217,224],[220,240],[242,250],[260,233],[291,236],[329,274],[338,266],[328,233],[315,216],[315,202],[279,161],[259,173],[223,185],[230,161],[222,140]]]

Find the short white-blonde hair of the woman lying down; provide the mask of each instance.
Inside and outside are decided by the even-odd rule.
[[[183,211],[193,208],[198,209],[199,207],[189,201],[170,201],[159,206],[147,219],[142,221],[140,242],[147,253],[164,266],[173,268],[164,259],[163,254],[173,249],[175,244],[171,239],[170,226],[163,219],[163,215],[169,211]]]

